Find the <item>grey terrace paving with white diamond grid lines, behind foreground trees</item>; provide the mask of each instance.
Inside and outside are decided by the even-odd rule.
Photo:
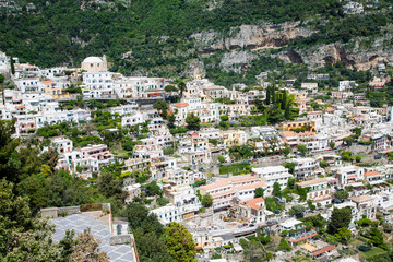
[[[100,212],[99,212],[100,213]],[[105,219],[106,218],[106,219]],[[50,219],[56,225],[53,240],[60,241],[66,236],[67,229],[73,229],[75,234],[83,233],[91,228],[91,233],[96,239],[100,239],[100,251],[105,251],[110,261],[128,262],[134,261],[133,248],[131,245],[109,245],[109,216],[98,217],[96,212],[86,212],[82,214],[69,215]]]

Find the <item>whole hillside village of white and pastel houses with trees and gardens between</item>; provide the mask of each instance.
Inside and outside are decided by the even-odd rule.
[[[0,118],[13,121],[14,139],[91,184],[110,171],[123,204],[188,229],[198,261],[373,261],[392,248],[393,107],[356,81],[326,91],[329,74],[297,84],[261,72],[258,86],[226,88],[198,74],[126,76],[105,56],[41,69],[4,52],[0,73]],[[392,87],[381,62],[367,90]],[[60,216],[49,207],[43,215]],[[52,218],[57,233],[60,219],[87,219],[82,206],[68,212]],[[123,260],[103,250],[139,261],[127,222],[108,219],[107,234],[133,245]]]

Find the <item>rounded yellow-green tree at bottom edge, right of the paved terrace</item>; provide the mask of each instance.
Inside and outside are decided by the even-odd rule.
[[[165,246],[168,254],[177,261],[194,261],[195,242],[183,225],[171,222],[165,227]]]

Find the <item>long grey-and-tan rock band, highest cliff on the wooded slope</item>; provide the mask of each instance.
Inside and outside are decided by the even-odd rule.
[[[201,53],[216,50],[234,50],[240,48],[259,49],[275,48],[289,44],[294,39],[308,37],[313,33],[296,23],[263,25],[241,25],[231,27],[227,34],[206,31],[193,34],[196,47]]]

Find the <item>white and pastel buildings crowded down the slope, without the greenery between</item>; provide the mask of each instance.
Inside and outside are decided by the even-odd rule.
[[[357,86],[355,81],[341,81],[332,92],[336,103],[329,106],[315,98],[320,95],[318,83],[301,83],[300,88],[295,88],[294,81],[287,81],[282,88],[293,96],[301,117],[275,126],[219,129],[215,124],[223,121],[223,116],[234,123],[240,117],[251,116],[255,98],[265,99],[265,91],[228,90],[206,79],[195,79],[186,84],[180,102],[169,104],[167,114],[175,115],[175,124],[181,127],[186,126],[187,116],[194,114],[200,118],[202,128],[179,135],[170,132],[167,121],[152,107],[155,100],[174,95],[165,91],[171,84],[170,80],[131,78],[109,72],[105,56],[88,57],[81,68],[74,69],[39,69],[19,63],[17,59],[13,64],[14,72],[10,73],[10,58],[0,53],[0,72],[9,75],[8,81],[13,83],[13,88],[4,90],[1,95],[0,118],[16,120],[16,136],[34,134],[39,128],[56,123],[92,120],[94,109],[63,108],[62,102],[81,98],[127,100],[127,105],[106,110],[121,118],[122,128],[146,123],[148,133],[139,140],[132,156],[121,159],[121,172],[127,176],[146,171],[150,174],[148,181],[158,181],[169,204],[152,212],[163,224],[186,224],[201,249],[214,249],[228,241],[237,241],[236,234],[249,233],[251,227],[228,229],[221,217],[218,221],[223,224],[216,223],[215,214],[228,210],[233,217],[254,228],[276,222],[275,230],[290,231],[286,238],[291,245],[312,241],[309,252],[314,258],[334,252],[336,247],[313,241],[317,234],[312,229],[286,215],[294,204],[307,206],[298,196],[289,203],[285,199],[278,200],[286,205],[284,215],[277,216],[266,210],[264,198],[273,195],[274,186],[278,183],[284,189],[291,179],[297,181],[295,187],[305,189],[307,200],[321,209],[325,218],[330,217],[334,207],[350,206],[350,229],[354,231],[354,222],[364,216],[374,219],[376,214],[381,213],[386,223],[393,222],[393,213],[390,212],[393,209],[393,184],[390,183],[393,166],[361,167],[345,163],[335,154],[336,150],[348,145],[345,139],[354,134],[356,127],[361,127],[358,141],[369,144],[368,150],[373,154],[392,151],[392,107],[370,107],[365,96],[352,93],[352,88]],[[259,79],[263,81],[266,75],[261,73]],[[310,74],[308,79],[327,80],[329,75]],[[370,86],[379,88],[377,83],[386,81],[374,79]],[[266,86],[270,84],[264,83]],[[75,87],[81,90],[78,95],[71,92]],[[311,102],[319,104],[321,109],[314,109]],[[230,164],[229,148],[242,145],[251,146],[255,154],[246,159],[251,163],[249,174],[212,176],[218,175],[218,158],[222,156],[225,159],[224,165]],[[305,145],[307,152],[299,152],[299,145]],[[50,146],[59,154],[58,168],[85,179],[99,176],[103,167],[118,160],[105,144],[74,147],[71,139],[56,136],[51,139]],[[174,153],[165,154],[171,146]],[[287,147],[290,154],[284,160],[282,152]],[[258,154],[265,157],[258,159]],[[277,158],[281,163],[275,162]],[[284,162],[291,163],[294,169],[284,167]],[[202,180],[206,184],[196,187]],[[263,198],[255,198],[259,188],[264,191]],[[141,184],[132,179],[124,181],[124,190],[129,193],[127,202],[132,202],[142,192]],[[335,199],[334,193],[340,190],[347,190],[349,198],[345,201]],[[213,204],[202,213],[201,199],[207,194]],[[195,217],[200,221],[195,222]],[[254,231],[254,228],[251,230]]]

